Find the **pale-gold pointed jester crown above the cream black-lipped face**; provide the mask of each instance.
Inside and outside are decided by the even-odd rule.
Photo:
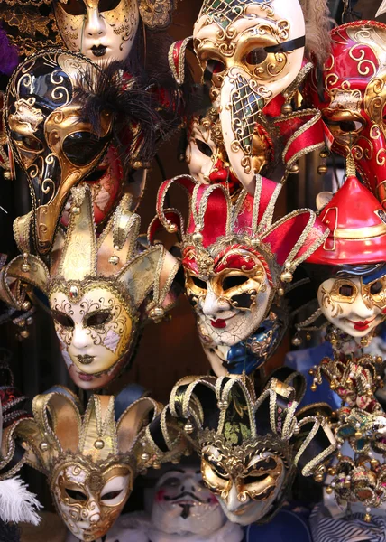
[[[33,288],[49,294],[57,287],[75,301],[81,294],[82,283],[94,279],[115,288],[134,318],[138,318],[138,307],[152,292],[146,313],[154,319],[161,318],[170,307],[167,296],[179,263],[161,245],[139,251],[140,217],[130,210],[131,196],[125,194],[119,201],[97,238],[89,188],[81,183],[72,189],[71,195],[69,228],[66,234],[58,231],[49,266],[26,251],[30,221],[23,217],[15,220],[14,237],[23,255],[0,271],[0,298],[22,308],[23,283],[30,285],[32,297]]]

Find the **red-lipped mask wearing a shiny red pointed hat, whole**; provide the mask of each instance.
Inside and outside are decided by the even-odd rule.
[[[364,337],[386,315],[386,213],[351,174],[320,219],[330,233],[307,263],[314,264],[311,276],[325,269],[317,281],[321,312],[348,335]]]

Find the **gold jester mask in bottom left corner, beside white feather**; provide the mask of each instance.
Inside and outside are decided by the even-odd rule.
[[[3,439],[5,457],[23,443],[23,463],[46,475],[60,518],[78,540],[106,535],[147,466],[144,427],[161,405],[141,395],[135,385],[117,397],[93,395],[83,413],[69,389],[52,388],[33,399],[33,417]]]

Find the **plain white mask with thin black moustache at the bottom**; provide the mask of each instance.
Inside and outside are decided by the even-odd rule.
[[[152,504],[152,525],[161,532],[180,535],[216,533],[225,515],[206,488],[199,468],[178,465],[161,476]]]

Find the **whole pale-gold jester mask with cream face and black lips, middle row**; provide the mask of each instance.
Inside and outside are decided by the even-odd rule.
[[[142,324],[173,304],[179,263],[161,245],[139,244],[129,196],[97,238],[89,189],[71,193],[69,228],[65,238],[59,230],[50,270],[24,252],[3,268],[2,295],[17,305],[20,281],[34,300],[45,294],[71,378],[80,388],[104,388],[131,360]]]

